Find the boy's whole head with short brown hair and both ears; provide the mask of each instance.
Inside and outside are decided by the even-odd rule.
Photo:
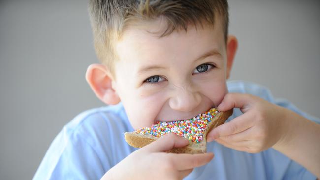
[[[226,0],[90,0],[89,11],[103,65],[86,78],[103,102],[122,101],[133,128],[221,102],[237,49]]]

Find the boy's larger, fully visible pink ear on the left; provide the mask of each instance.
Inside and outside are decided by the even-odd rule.
[[[120,98],[112,87],[113,77],[102,64],[91,64],[86,72],[86,80],[96,96],[106,104],[120,102]]]

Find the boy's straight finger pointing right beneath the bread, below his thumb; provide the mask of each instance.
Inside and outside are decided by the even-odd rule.
[[[174,154],[169,153],[173,166],[177,170],[187,170],[195,167],[203,166],[211,161],[214,157],[213,153],[203,154]]]

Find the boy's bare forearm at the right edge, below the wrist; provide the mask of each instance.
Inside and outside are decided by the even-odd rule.
[[[281,108],[281,107],[279,107]],[[320,177],[320,125],[282,108],[285,126],[282,138],[273,146]]]

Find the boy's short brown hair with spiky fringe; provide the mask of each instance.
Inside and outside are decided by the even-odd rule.
[[[117,59],[113,43],[121,37],[128,23],[134,20],[153,20],[160,16],[167,20],[166,36],[174,30],[186,30],[189,23],[214,25],[219,14],[228,34],[227,0],[89,0],[89,15],[98,59],[113,73]]]

